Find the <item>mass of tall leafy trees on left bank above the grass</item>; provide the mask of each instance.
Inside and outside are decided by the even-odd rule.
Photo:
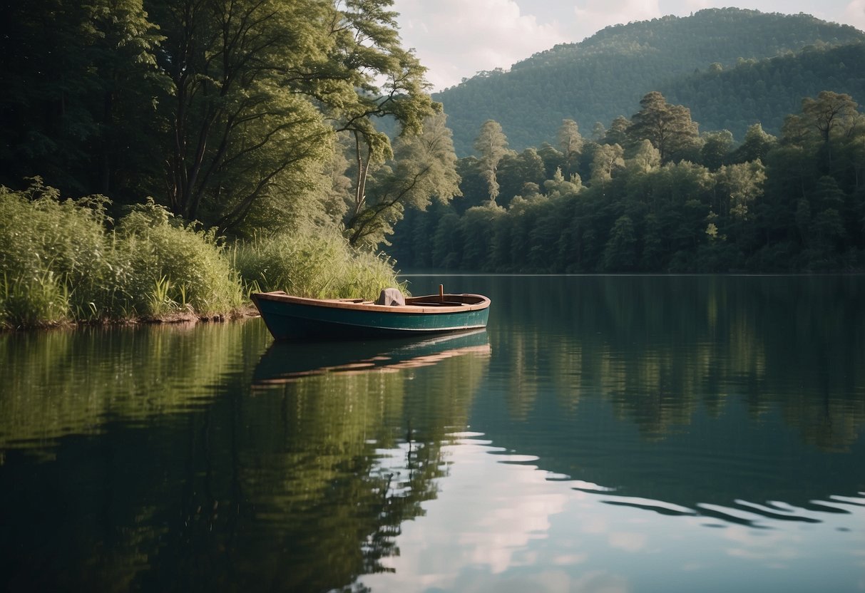
[[[336,224],[334,131],[356,137],[354,189],[440,112],[400,47],[392,0],[13,3],[0,51],[0,183],[41,172],[64,194],[157,203],[187,222]]]

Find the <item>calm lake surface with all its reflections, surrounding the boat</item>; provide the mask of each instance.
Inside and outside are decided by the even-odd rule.
[[[865,277],[407,279],[489,328],[0,335],[0,590],[865,590]]]

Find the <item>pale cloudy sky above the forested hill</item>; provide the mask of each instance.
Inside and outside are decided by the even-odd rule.
[[[394,0],[403,47],[415,48],[434,90],[608,25],[729,6],[713,0]],[[865,30],[865,0],[751,0],[740,8],[805,12]]]

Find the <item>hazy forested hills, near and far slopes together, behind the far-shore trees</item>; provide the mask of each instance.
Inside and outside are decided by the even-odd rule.
[[[564,118],[576,120],[584,136],[596,122],[630,118],[653,90],[689,106],[701,130],[727,128],[740,140],[744,127],[758,120],[772,131],[769,122],[797,111],[804,94],[826,89],[857,99],[843,85],[848,74],[862,77],[865,62],[852,61],[862,42],[865,33],[858,29],[804,14],[701,10],[608,27],[580,43],[535,54],[509,72],[480,73],[433,98],[445,105],[458,156],[473,153],[474,138],[487,119],[502,124],[510,147],[522,150],[553,143]],[[850,47],[838,48],[843,45]],[[843,55],[850,61],[827,69],[834,48],[848,51]],[[833,78],[837,86],[830,88]],[[737,86],[759,88],[746,94]],[[803,93],[811,87],[814,92]],[[858,99],[865,102],[865,96]]]

